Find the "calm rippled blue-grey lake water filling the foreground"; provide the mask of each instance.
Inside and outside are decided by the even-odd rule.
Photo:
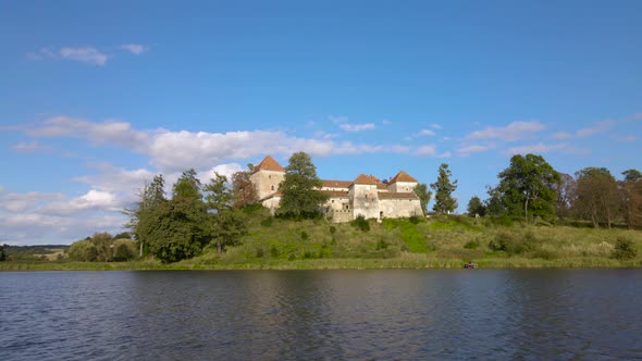
[[[642,359],[642,271],[0,272],[0,360],[312,359]]]

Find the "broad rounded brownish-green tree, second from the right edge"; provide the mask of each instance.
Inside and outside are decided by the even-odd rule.
[[[619,208],[617,183],[605,167],[585,167],[576,173],[578,198],[576,210],[589,217],[593,227],[606,223],[610,228]]]

